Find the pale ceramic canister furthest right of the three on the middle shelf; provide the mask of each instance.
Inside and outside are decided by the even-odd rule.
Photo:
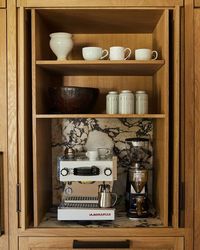
[[[146,91],[136,91],[136,114],[148,114],[148,94]]]

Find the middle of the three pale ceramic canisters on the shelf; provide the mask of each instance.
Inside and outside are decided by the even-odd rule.
[[[134,114],[134,94],[130,90],[122,90],[119,94],[119,113]]]

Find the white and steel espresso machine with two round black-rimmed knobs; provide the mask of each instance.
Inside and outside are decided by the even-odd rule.
[[[58,178],[65,183],[58,207],[58,220],[114,220],[117,157],[88,160],[86,157],[61,157]],[[112,197],[115,201],[112,202]]]

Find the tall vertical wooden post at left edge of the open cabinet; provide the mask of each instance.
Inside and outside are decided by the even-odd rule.
[[[19,127],[19,180],[21,183],[21,227],[32,223],[32,145],[31,145],[31,66],[30,16],[24,8],[18,9],[18,127]]]

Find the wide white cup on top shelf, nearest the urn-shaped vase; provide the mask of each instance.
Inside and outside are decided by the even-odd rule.
[[[85,60],[99,60],[108,56],[108,50],[100,47],[84,47],[82,55]]]

